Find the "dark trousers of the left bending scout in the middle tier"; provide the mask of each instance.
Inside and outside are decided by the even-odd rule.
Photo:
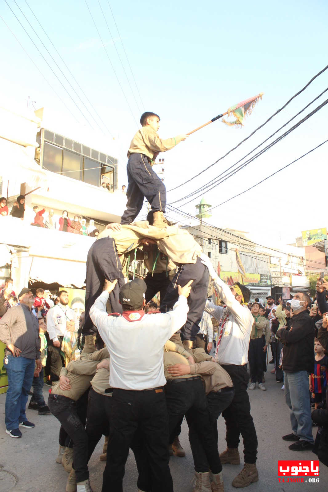
[[[93,334],[97,331],[90,318],[90,308],[101,294],[106,280],[118,279],[114,290],[109,294],[112,312],[122,313],[119,303],[119,292],[124,285],[121,262],[118,258],[113,238],[101,238],[95,241],[88,252],[87,277],[85,291],[85,322],[82,333]]]

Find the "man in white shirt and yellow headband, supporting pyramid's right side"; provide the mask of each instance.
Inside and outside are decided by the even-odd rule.
[[[226,285],[215,272],[207,256],[201,261],[207,266],[214,287],[226,307],[206,302],[205,311],[219,321],[215,359],[229,373],[234,397],[229,407],[222,412],[227,427],[227,450],[221,453],[222,463],[240,463],[238,444],[240,434],[244,441],[244,467],[234,478],[234,487],[247,487],[259,480],[256,468],[258,440],[251,406],[247,393],[249,373],[247,371],[248,346],[253,326],[253,316],[247,307],[250,291],[244,285]],[[245,306],[243,306],[245,304]]]

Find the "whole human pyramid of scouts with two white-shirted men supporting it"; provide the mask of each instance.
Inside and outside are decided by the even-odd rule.
[[[102,492],[123,490],[130,448],[138,490],[173,491],[169,456],[183,454],[184,417],[195,465],[193,492],[224,491],[222,463],[240,463],[240,434],[244,465],[232,485],[259,480],[247,394],[250,292],[237,283],[228,287],[194,238],[164,218],[165,186],[152,162],[188,135],[162,140],[159,121],[144,113],[131,141],[127,209],[121,224],[109,224],[88,253],[84,347],[78,360],[63,367],[49,395],[49,409],[61,423],[56,461],[65,464],[65,446],[73,448],[72,463],[66,456],[71,469],[66,492],[91,491],[88,461],[102,435],[107,448]],[[147,220],[133,222],[144,197],[151,212]],[[128,281],[129,262],[140,258],[146,278]],[[224,307],[206,300],[210,280]],[[146,314],[145,303],[158,292],[159,312]],[[215,359],[193,348],[204,310],[220,323]],[[219,455],[221,413],[227,449]]]

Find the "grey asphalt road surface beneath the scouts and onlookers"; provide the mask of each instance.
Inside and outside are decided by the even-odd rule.
[[[272,366],[269,366],[271,369]],[[320,464],[319,483],[285,483],[278,480],[278,460],[314,460],[316,456],[309,451],[296,453],[288,449],[288,442],[281,436],[291,432],[289,409],[285,404],[281,384],[276,383],[274,374],[266,373],[267,391],[259,389],[249,392],[252,416],[258,435],[259,482],[247,488],[250,492],[278,491],[324,491],[327,490],[328,468]],[[44,387],[47,398],[48,387]],[[58,452],[59,422],[52,415],[39,416],[33,410],[27,410],[27,417],[35,423],[34,429],[21,428],[23,437],[13,439],[5,433],[4,426],[5,394],[0,395],[0,492],[64,492],[67,473],[55,462]],[[219,451],[226,448],[225,423],[222,417],[218,420]],[[314,428],[315,435],[317,428]],[[192,492],[194,476],[193,459],[188,441],[188,427],[183,423],[180,441],[186,450],[185,458],[173,456],[170,469],[175,492]],[[90,479],[94,492],[101,491],[104,463],[99,461],[103,440],[98,444],[90,461]],[[239,451],[242,452],[242,443]],[[243,460],[242,460],[243,463]],[[224,465],[225,491],[236,491],[231,485],[232,479],[241,470],[240,465]],[[130,452],[126,474],[123,482],[125,492],[136,492],[137,472],[133,453]],[[305,480],[305,479],[304,479]]]

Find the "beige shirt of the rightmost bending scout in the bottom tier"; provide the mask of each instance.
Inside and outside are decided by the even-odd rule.
[[[206,395],[211,391],[218,391],[227,386],[232,388],[233,383],[228,372],[217,362],[199,362],[190,366],[191,375],[200,374],[205,383]]]

